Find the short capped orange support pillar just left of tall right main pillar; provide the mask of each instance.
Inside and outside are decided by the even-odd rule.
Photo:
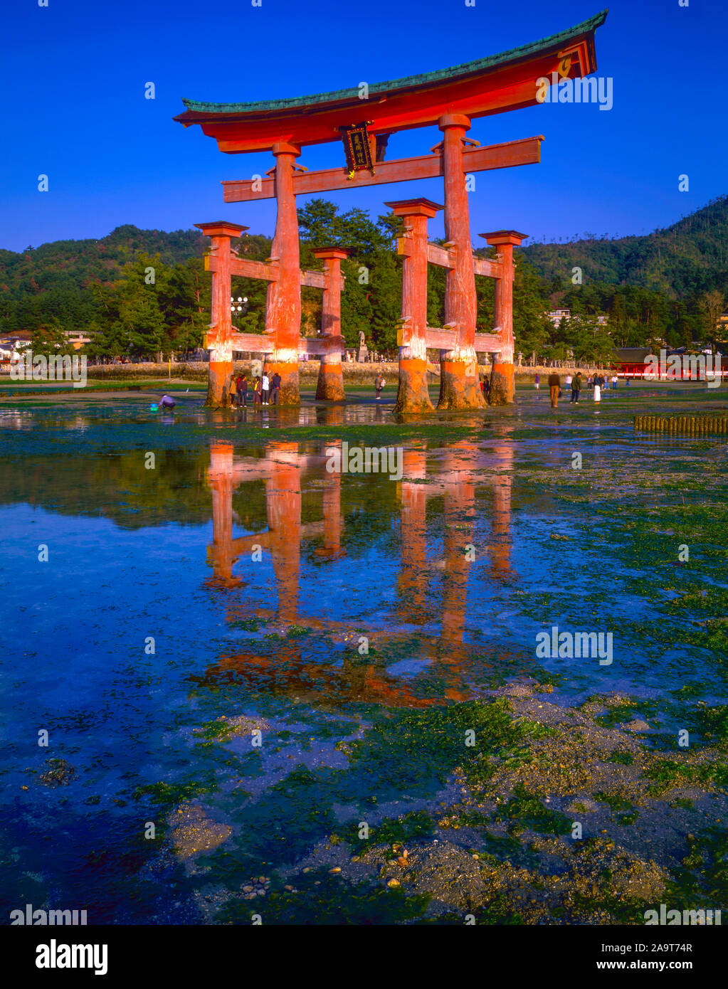
[[[397,245],[403,255],[400,387],[396,412],[432,410],[427,390],[427,221],[442,207],[428,199],[385,203],[405,221]]]

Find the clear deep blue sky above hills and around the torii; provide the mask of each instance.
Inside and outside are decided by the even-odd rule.
[[[357,86],[455,65],[586,20],[600,0],[37,0],[5,5],[0,247],[101,237],[122,224],[179,229],[227,218],[272,233],[272,203],[223,203],[222,179],[272,166],[227,155],[172,122],[181,98],[247,102]],[[614,106],[529,108],[473,122],[481,143],[543,134],[540,165],[481,173],[474,240],[513,227],[539,238],[640,233],[728,192],[726,0],[617,0],[596,32]],[[144,99],[152,81],[156,99]],[[426,152],[436,129],[390,141]],[[309,168],[343,163],[304,148]],[[38,191],[46,173],[49,192]],[[689,176],[689,192],[678,176]],[[385,200],[437,200],[441,180],[328,195],[376,216]],[[301,197],[300,205],[308,197]],[[441,230],[431,224],[432,235]],[[526,241],[528,242],[528,241]]]

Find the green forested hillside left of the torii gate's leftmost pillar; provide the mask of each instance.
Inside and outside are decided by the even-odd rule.
[[[95,338],[89,353],[109,357],[199,346],[210,321],[209,246],[196,229],[125,225],[99,240],[0,250],[0,333],[31,332],[40,344],[82,330]],[[242,249],[267,257],[270,238],[245,237]]]

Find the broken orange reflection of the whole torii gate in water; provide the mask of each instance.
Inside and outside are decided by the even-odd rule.
[[[338,445],[338,441],[327,446]],[[501,469],[508,473],[491,474],[494,454]],[[426,619],[425,598],[431,582],[431,567],[426,560],[426,498],[444,494],[445,500],[445,566],[443,573],[442,635],[423,640],[425,654],[437,656],[449,668],[466,660],[467,647],[463,644],[467,610],[467,585],[472,567],[467,547],[473,539],[475,515],[474,471],[487,468],[488,476],[482,478],[494,486],[494,516],[491,547],[491,576],[503,579],[510,574],[509,566],[509,517],[510,477],[512,446],[503,442],[493,453],[481,450],[473,443],[463,442],[444,451],[437,482],[425,482],[426,457],[424,449],[405,453],[404,479],[400,485],[402,500],[402,567],[398,587],[401,595],[399,618],[412,623]],[[347,632],[351,622],[332,621],[323,618],[304,618],[298,614],[301,544],[305,538],[322,535],[323,545],[318,555],[334,560],[343,555],[341,549],[340,484],[338,473],[327,473],[323,454],[298,453],[297,443],[271,443],[266,456],[257,460],[233,462],[232,446],[216,444],[211,450],[209,482],[213,489],[214,542],[209,548],[209,561],[213,565],[217,586],[239,586],[242,582],[232,577],[236,559],[250,553],[257,545],[271,552],[273,568],[278,584],[278,610],[244,608],[243,613],[261,619],[279,618],[289,624],[331,632]],[[323,519],[321,522],[302,525],[301,475],[307,471],[323,471],[322,494]],[[232,492],[241,483],[264,480],[266,486],[266,510],[268,532],[256,533],[238,539],[232,538]],[[479,479],[480,480],[480,479]],[[366,623],[357,622],[357,628],[366,631]],[[374,638],[381,629],[372,629]],[[390,628],[388,640],[404,638],[405,630]],[[283,655],[285,654],[285,655]],[[229,674],[250,679],[253,683],[261,676],[269,686],[289,688],[297,694],[307,693],[314,683],[316,692],[340,699],[378,701],[395,705],[426,706],[435,700],[415,697],[408,685],[374,665],[344,661],[344,668],[331,669],[320,664],[306,663],[302,659],[302,645],[286,640],[277,647],[277,655],[264,657],[239,653],[223,657],[209,671],[211,675]],[[321,681],[325,688],[321,690]],[[465,699],[466,693],[448,690],[446,696]]]

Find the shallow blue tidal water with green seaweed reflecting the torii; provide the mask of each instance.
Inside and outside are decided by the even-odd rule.
[[[684,728],[720,751],[726,438],[637,434],[632,415],[722,391],[555,411],[523,390],[411,423],[369,396],[0,405],[5,923],[26,903],[90,924],[451,917],[436,883],[409,895],[407,863],[388,885],[364,851],[452,840],[462,737],[513,683],[564,709],[629,698],[608,726],[644,718],[649,752],[680,754]],[[399,450],[401,478],[328,471],[342,442]],[[537,656],[554,626],[610,633],[611,662]],[[523,749],[490,730],[481,768]],[[482,853],[485,818],[464,829]],[[643,850],[632,829],[619,842]]]

